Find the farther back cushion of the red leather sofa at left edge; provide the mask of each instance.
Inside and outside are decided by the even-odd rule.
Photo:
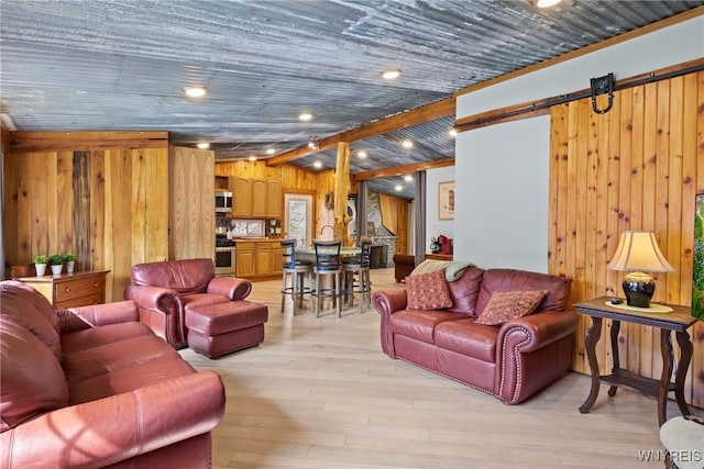
[[[57,360],[61,360],[62,346],[58,336],[58,317],[54,308],[32,287],[8,281],[3,282],[0,288],[2,314],[14,317],[16,322],[42,340],[52,350]],[[43,305],[42,303],[46,304]],[[45,306],[48,308],[48,311]]]

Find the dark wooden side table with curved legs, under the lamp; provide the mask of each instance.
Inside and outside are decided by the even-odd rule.
[[[658,423],[662,425],[667,420],[667,402],[668,393],[674,391],[678,406],[682,415],[692,415],[690,407],[684,401],[684,379],[686,377],[686,370],[690,367],[692,360],[692,339],[686,330],[690,328],[697,319],[692,316],[690,308],[678,306],[672,304],[663,304],[662,306],[672,309],[669,313],[653,313],[647,309],[626,309],[624,306],[610,304],[610,297],[595,298],[590,301],[576,303],[574,306],[580,314],[592,317],[592,325],[586,333],[586,356],[588,358],[590,369],[592,371],[592,389],[590,395],[586,398],[582,406],[580,406],[581,413],[587,413],[594,405],[598,395],[600,383],[610,384],[608,388],[608,395],[614,397],[619,386],[628,386],[629,388],[637,389],[646,395],[653,397],[658,400]],[[625,305],[625,303],[623,303]],[[614,368],[610,375],[600,376],[598,362],[596,360],[596,343],[602,335],[602,320],[607,319],[613,321],[610,342],[612,354],[614,357]],[[629,322],[634,324],[641,324],[660,330],[660,351],[662,354],[662,376],[659,380],[646,378],[636,375],[629,370],[620,368],[618,358],[618,331],[620,328],[620,322]],[[674,382],[672,379],[672,368],[674,357],[672,354],[671,333],[676,335],[678,344],[680,345],[680,360],[678,362],[678,370],[675,373]]]

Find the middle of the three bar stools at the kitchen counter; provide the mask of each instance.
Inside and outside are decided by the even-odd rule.
[[[340,286],[342,277],[340,248],[342,247],[342,242],[314,239],[312,246],[316,250],[316,264],[312,268],[316,277],[316,288],[312,291],[316,317],[320,316],[320,302],[322,300],[332,300],[336,303],[338,316],[342,317],[342,288]],[[330,279],[331,283],[328,283],[326,277],[332,277]]]

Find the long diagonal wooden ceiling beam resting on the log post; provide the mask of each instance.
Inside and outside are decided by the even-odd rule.
[[[437,119],[447,118],[448,115],[454,115],[454,97],[433,102],[432,104],[426,104],[414,109],[413,111],[392,115],[391,118],[370,122],[369,124],[361,125],[356,129],[322,138],[317,142],[317,149],[310,148],[306,145],[282,153],[280,155],[267,158],[266,166],[279,166],[285,163],[302,158],[304,156],[334,148],[340,142],[352,143],[398,131],[400,129],[410,127],[413,125],[422,124],[425,122],[435,121]]]

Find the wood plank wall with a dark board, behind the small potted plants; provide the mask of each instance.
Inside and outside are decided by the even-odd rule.
[[[167,135],[140,148],[141,133],[119,133],[123,143],[105,148],[102,139],[96,148],[85,142],[106,133],[52,134],[36,133],[36,147],[62,149],[6,150],[6,260],[32,264],[37,254],[72,250],[79,269],[111,270],[107,300],[122,300],[133,264],[168,256]]]

